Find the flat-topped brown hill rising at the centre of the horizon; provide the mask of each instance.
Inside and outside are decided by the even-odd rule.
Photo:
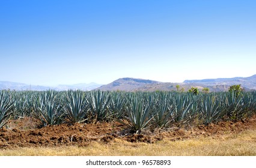
[[[97,89],[100,89],[102,91],[117,91],[117,90],[135,91],[135,89],[142,88],[145,85],[156,85],[158,83],[162,83],[162,82],[125,77],[125,78],[117,79],[114,82],[109,83],[108,85],[100,86]]]

